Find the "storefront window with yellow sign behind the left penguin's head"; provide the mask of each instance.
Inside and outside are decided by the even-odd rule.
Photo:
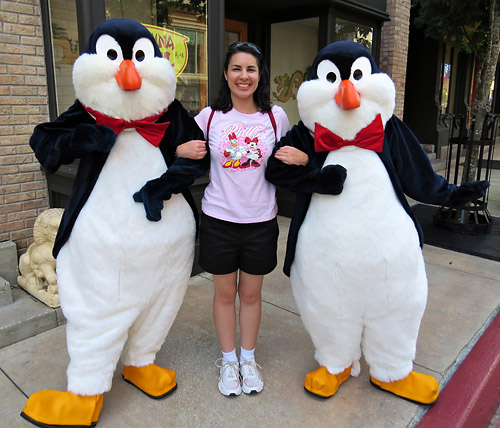
[[[135,19],[153,33],[177,75],[190,114],[207,105],[206,0],[106,0],[106,18]]]

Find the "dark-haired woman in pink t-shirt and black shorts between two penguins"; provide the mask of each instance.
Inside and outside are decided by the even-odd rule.
[[[264,382],[255,362],[264,275],[277,264],[275,187],[265,180],[267,159],[289,129],[281,107],[270,105],[269,72],[261,50],[233,43],[226,54],[219,96],[195,118],[210,151],[210,183],[202,199],[199,264],[213,274],[214,321],[222,348],[219,391],[258,393]],[[307,155],[288,147],[286,163],[305,164]],[[178,157],[201,159],[205,141],[177,148]],[[236,354],[236,295],[241,352]]]

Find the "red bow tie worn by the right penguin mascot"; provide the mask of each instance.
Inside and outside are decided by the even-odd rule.
[[[384,125],[380,114],[356,134],[353,140],[344,140],[330,130],[316,124],[314,129],[314,150],[316,152],[329,152],[344,146],[358,146],[363,149],[381,152],[384,144]]]

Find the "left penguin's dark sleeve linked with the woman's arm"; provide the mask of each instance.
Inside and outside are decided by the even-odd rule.
[[[190,140],[204,140],[202,130],[179,101],[174,100],[169,105],[161,121],[170,122],[159,146],[168,170],[161,177],[148,181],[134,194],[134,200],[144,204],[146,217],[151,221],[161,219],[163,201],[173,194],[184,193],[198,177],[206,174],[210,163],[208,156],[201,160],[175,157],[179,145]]]

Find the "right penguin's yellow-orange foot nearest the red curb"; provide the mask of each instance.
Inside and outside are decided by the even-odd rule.
[[[411,372],[404,379],[381,382],[370,377],[372,385],[417,404],[433,404],[439,396],[439,383],[432,376]]]

